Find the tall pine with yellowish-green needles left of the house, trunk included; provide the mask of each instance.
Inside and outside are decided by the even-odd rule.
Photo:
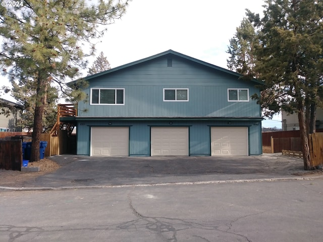
[[[57,85],[68,94],[66,83],[80,77],[86,56],[92,55],[92,41],[103,36],[103,25],[124,15],[128,0],[103,1],[87,5],[83,0],[25,0],[23,6],[0,7],[0,51],[2,71],[12,83],[31,83],[35,90],[35,111],[31,161],[39,160],[39,141],[48,90]],[[89,43],[88,53],[81,48]],[[78,85],[79,87],[79,85]],[[73,98],[84,98],[75,88]]]

